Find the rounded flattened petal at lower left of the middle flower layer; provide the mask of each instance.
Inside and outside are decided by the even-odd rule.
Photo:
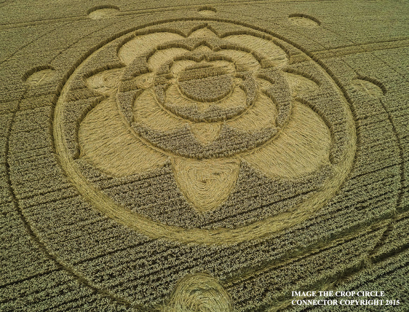
[[[136,123],[159,131],[175,131],[185,127],[187,124],[186,120],[177,118],[162,109],[162,107],[157,104],[152,89],[143,91],[135,100],[133,115]]]

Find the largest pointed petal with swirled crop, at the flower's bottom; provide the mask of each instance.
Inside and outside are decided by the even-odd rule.
[[[206,212],[228,199],[240,170],[237,158],[172,159],[182,193],[198,212]]]

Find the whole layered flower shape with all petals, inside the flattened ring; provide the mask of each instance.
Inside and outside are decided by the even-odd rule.
[[[170,160],[180,190],[202,212],[229,197],[243,160],[271,178],[329,164],[327,126],[294,101],[319,87],[287,73],[287,55],[271,40],[220,38],[208,28],[188,37],[152,32],[118,56],[124,67],[87,79],[107,98],[79,129],[81,156],[102,172],[144,173]]]

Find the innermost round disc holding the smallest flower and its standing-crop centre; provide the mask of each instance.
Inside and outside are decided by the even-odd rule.
[[[172,114],[195,123],[238,116],[254,102],[257,92],[254,78],[238,73],[232,58],[207,51],[194,57],[189,53],[179,56],[165,75],[172,78],[163,89],[156,88],[156,101]]]

